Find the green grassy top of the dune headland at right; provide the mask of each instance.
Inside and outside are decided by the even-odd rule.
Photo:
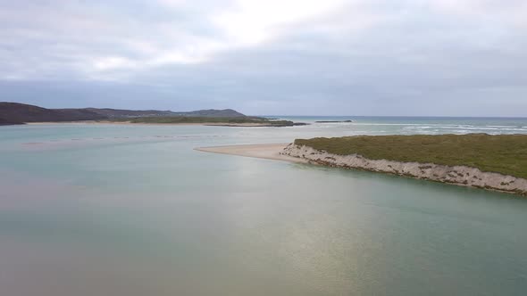
[[[319,137],[297,139],[295,144],[371,160],[460,165],[527,178],[527,135]]]

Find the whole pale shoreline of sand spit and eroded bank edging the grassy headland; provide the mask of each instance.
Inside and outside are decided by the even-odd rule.
[[[360,169],[377,173],[412,177],[449,185],[461,185],[490,191],[527,196],[527,179],[485,172],[466,166],[433,163],[368,160],[360,155],[337,155],[296,144],[240,144],[195,148],[213,152],[268,160],[283,160],[341,169]]]

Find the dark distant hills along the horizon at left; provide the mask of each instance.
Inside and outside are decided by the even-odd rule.
[[[188,112],[174,111],[134,111],[119,109],[46,109],[24,103],[0,102],[0,125],[20,124],[24,122],[59,122],[79,120],[104,120],[138,117],[213,117],[213,118],[245,118],[246,116],[231,109],[199,110]]]

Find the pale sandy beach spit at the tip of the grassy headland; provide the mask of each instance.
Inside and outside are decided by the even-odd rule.
[[[241,144],[230,146],[214,146],[195,148],[201,152],[213,152],[221,154],[238,155],[245,157],[254,157],[266,160],[283,160],[297,163],[309,163],[308,160],[299,159],[288,155],[282,155],[280,152],[289,145],[289,143],[280,144]]]

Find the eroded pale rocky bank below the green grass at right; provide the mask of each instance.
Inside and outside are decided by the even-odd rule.
[[[450,167],[434,163],[369,160],[357,154],[337,155],[296,144],[289,144],[280,154],[310,160],[330,167],[371,170],[527,196],[527,179],[484,172],[466,166]]]

